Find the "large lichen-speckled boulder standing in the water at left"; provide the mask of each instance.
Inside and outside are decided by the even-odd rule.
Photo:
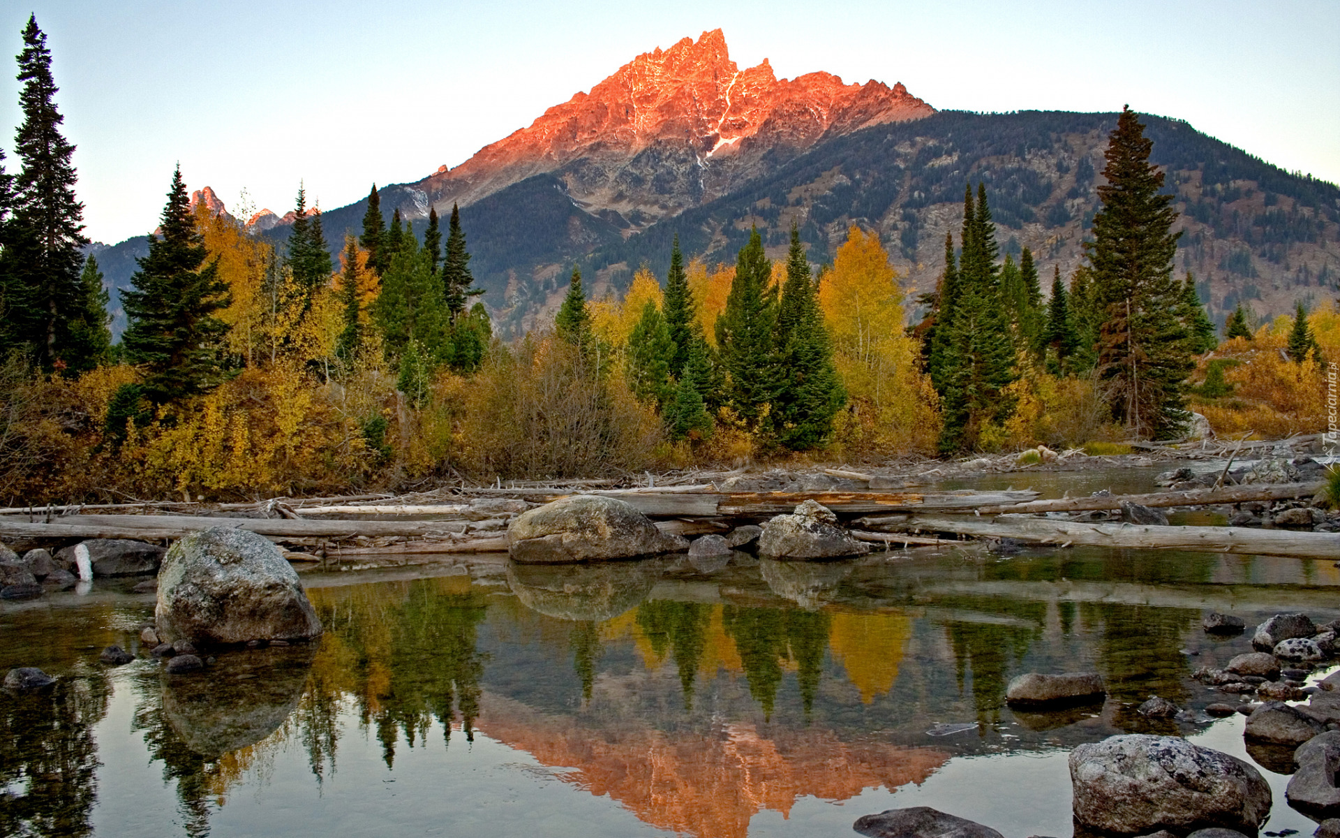
[[[154,611],[163,642],[304,641],[322,621],[279,547],[247,530],[216,527],[172,546]]]

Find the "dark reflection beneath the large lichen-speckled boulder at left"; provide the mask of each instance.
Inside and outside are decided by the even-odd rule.
[[[163,715],[209,759],[255,744],[297,707],[314,654],[306,645],[234,652],[189,678],[163,677]]]

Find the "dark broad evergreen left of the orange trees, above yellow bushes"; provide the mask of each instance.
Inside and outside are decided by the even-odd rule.
[[[228,324],[214,312],[232,302],[218,260],[205,264],[180,166],[161,229],[161,239],[149,236],[149,255],[121,295],[130,320],[122,335],[126,359],[142,367],[143,396],[158,405],[208,393],[226,378]]]

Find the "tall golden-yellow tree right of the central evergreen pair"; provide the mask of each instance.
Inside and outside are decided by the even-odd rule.
[[[852,225],[820,276],[819,306],[851,401],[836,438],[855,452],[935,449],[938,400],[919,369],[917,341],[903,333],[904,295],[879,236]]]

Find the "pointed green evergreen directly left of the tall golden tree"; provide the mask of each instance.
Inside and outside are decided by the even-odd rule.
[[[791,225],[787,282],[777,306],[775,334],[777,385],[770,424],[787,448],[815,448],[827,441],[833,416],[847,401],[847,393],[833,366],[817,288],[795,224]]]

